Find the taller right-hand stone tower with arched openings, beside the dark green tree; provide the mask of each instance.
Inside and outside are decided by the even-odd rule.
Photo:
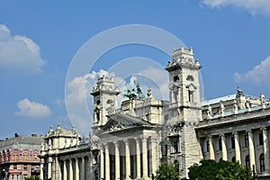
[[[193,49],[175,49],[172,62],[168,62],[168,156],[171,163],[179,165],[182,177],[187,177],[188,167],[200,161],[200,146],[195,126],[202,119],[199,70],[201,65],[193,58]]]

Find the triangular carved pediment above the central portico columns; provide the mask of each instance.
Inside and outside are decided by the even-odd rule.
[[[109,121],[103,126],[102,131],[110,132],[152,125],[148,121],[122,112],[108,115],[108,119]]]

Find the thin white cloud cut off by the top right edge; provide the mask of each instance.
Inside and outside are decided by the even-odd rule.
[[[202,0],[210,7],[236,6],[245,8],[250,14],[270,14],[269,0]]]

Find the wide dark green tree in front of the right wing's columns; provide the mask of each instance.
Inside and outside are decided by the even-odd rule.
[[[249,167],[228,161],[202,160],[189,167],[188,175],[191,180],[252,180]]]

